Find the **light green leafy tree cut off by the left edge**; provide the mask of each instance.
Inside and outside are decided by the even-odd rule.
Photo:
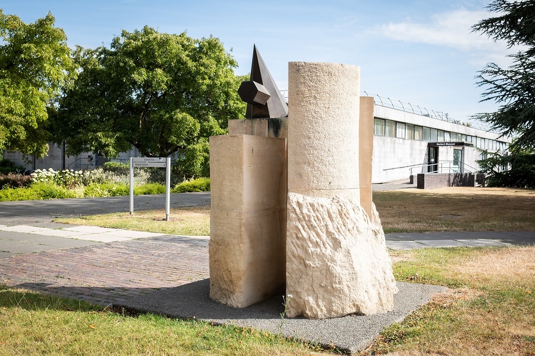
[[[52,14],[24,23],[0,9],[0,152],[48,152],[48,108],[75,74],[67,37]]]

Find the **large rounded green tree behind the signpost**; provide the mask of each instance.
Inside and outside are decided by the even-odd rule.
[[[149,157],[203,154],[210,136],[226,133],[228,119],[245,113],[236,61],[216,37],[146,26],[123,31],[109,49],[78,47],[74,59],[81,72],[55,123],[55,141],[65,140],[70,155],[117,157],[132,146]]]

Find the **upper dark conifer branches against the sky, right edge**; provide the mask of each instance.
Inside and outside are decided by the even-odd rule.
[[[487,6],[496,17],[478,22],[472,30],[493,41],[506,41],[508,48],[522,50],[509,56],[508,68],[489,63],[478,75],[486,88],[483,100],[500,104],[498,111],[476,115],[507,136],[518,136],[513,148],[535,147],[535,1],[494,0]]]

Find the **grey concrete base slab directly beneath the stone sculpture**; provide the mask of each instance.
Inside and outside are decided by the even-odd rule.
[[[398,282],[400,291],[394,298],[394,311],[378,315],[348,315],[343,318],[310,320],[285,319],[282,334],[287,337],[332,345],[356,352],[367,347],[381,329],[402,321],[411,311],[429,301],[445,287]],[[175,318],[195,317],[216,324],[254,327],[279,333],[280,313],[284,310],[282,296],[276,296],[247,308],[231,308],[209,298],[210,280],[188,283],[140,295],[122,306],[142,312],[161,313]]]

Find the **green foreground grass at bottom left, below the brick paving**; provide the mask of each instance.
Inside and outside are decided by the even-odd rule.
[[[264,331],[0,287],[0,355],[309,355],[314,345]]]

